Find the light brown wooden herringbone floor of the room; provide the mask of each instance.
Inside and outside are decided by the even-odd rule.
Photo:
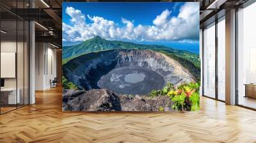
[[[256,112],[201,98],[200,112],[61,111],[61,88],[0,116],[0,142],[256,142]]]

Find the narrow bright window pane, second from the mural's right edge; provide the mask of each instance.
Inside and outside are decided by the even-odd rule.
[[[225,19],[218,22],[218,99],[225,101]]]

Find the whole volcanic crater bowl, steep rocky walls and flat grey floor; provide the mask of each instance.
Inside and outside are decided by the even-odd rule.
[[[161,89],[166,82],[172,82],[175,86],[195,82],[195,77],[179,62],[153,50],[91,52],[63,64],[63,73],[80,89],[107,88],[118,94],[129,94],[129,90],[135,91],[131,91],[131,94],[147,94],[152,89]],[[111,83],[113,85],[106,86]],[[139,89],[134,90],[132,86]],[[119,92],[124,89],[127,91]]]

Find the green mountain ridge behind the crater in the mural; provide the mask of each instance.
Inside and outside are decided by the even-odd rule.
[[[81,56],[89,52],[113,49],[141,49],[162,52],[176,61],[179,61],[179,63],[187,68],[196,77],[196,79],[200,79],[200,58],[198,54],[162,45],[142,45],[127,41],[109,41],[100,38],[100,36],[95,36],[94,38],[83,41],[78,45],[63,47],[63,64],[74,57]]]

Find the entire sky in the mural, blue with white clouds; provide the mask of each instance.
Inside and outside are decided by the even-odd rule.
[[[62,11],[63,45],[97,35],[199,52],[198,3],[63,3]]]

